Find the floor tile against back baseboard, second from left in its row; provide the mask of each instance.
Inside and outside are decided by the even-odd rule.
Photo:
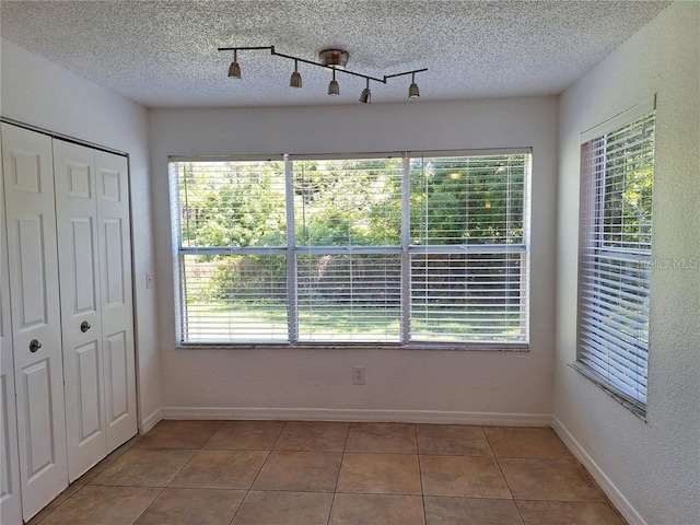
[[[281,421],[224,421],[205,448],[269,451],[283,428]]]

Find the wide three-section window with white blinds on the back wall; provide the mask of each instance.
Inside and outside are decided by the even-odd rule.
[[[180,345],[526,348],[528,152],[170,166]]]

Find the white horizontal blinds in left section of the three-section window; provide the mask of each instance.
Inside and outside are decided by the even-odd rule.
[[[175,162],[180,340],[288,339],[284,165]]]

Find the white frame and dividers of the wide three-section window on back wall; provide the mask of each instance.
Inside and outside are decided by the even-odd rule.
[[[508,247],[494,247],[495,245],[481,244],[467,246],[456,245],[455,248],[445,248],[442,246],[413,245],[409,242],[410,237],[410,159],[413,158],[440,158],[440,156],[479,156],[479,155],[525,155],[525,170],[523,175],[523,243],[517,247],[509,249]],[[410,323],[401,323],[402,332],[397,342],[372,342],[372,341],[305,341],[294,340],[298,337],[299,324],[296,320],[296,294],[292,289],[296,284],[296,257],[298,255],[308,255],[308,246],[296,246],[295,228],[294,226],[294,161],[322,161],[322,160],[359,160],[359,159],[394,159],[400,158],[402,161],[402,176],[408,178],[407,184],[401,184],[401,243],[398,246],[387,247],[358,247],[358,248],[337,248],[342,253],[355,254],[377,254],[393,253],[401,255],[401,317],[406,312],[410,315],[410,308],[405,304],[410,302],[410,264],[411,255],[417,253],[446,253],[454,252],[459,254],[485,254],[485,253],[520,253],[525,258],[525,268],[521,271],[520,280],[521,291],[525,299],[522,300],[521,310],[525,310],[525,315],[521,315],[521,329],[524,332],[524,341],[422,341],[410,340],[409,330]],[[179,245],[179,228],[180,228],[180,205],[177,185],[177,173],[173,167],[176,162],[243,162],[243,161],[282,161],[284,163],[284,184],[287,191],[287,245],[284,247],[218,247],[218,248],[187,248]],[[168,156],[170,189],[171,189],[171,214],[172,214],[172,245],[173,245],[173,272],[175,284],[175,315],[176,315],[176,348],[178,349],[283,349],[283,348],[322,348],[322,349],[347,349],[347,348],[366,348],[371,346],[375,349],[440,349],[440,350],[485,350],[485,351],[528,351],[529,350],[529,313],[530,313],[530,291],[529,291],[529,273],[530,273],[530,208],[532,208],[532,173],[533,173],[533,148],[497,148],[497,149],[479,149],[479,150],[439,150],[439,151],[411,151],[411,152],[366,152],[366,153],[326,153],[326,154],[282,154],[282,155],[171,155]],[[291,205],[291,206],[290,206]],[[292,228],[290,228],[292,225]],[[312,247],[311,252],[328,252],[325,247]],[[245,254],[280,254],[287,256],[288,268],[288,294],[287,303],[289,308],[289,331],[290,340],[285,341],[231,341],[231,342],[197,342],[184,340],[184,307],[185,303],[184,290],[182,287],[182,268],[185,255],[191,254],[218,254],[218,255],[245,255]],[[294,276],[294,278],[292,278]],[[408,310],[407,310],[408,308]]]

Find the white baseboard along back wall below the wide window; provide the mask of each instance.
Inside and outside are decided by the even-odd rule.
[[[161,419],[259,419],[296,421],[384,421],[401,423],[551,427],[549,413],[456,412],[440,410],[363,410],[329,408],[164,407]]]

